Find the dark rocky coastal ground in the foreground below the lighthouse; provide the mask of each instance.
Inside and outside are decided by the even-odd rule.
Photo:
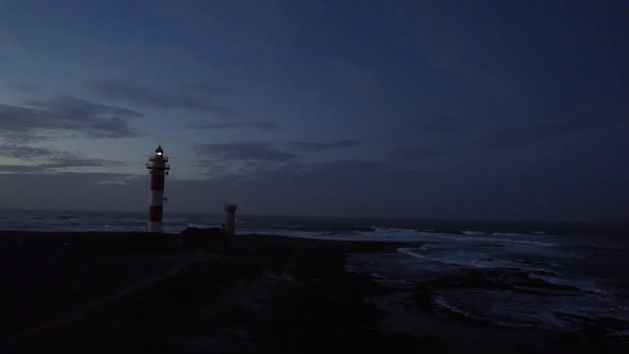
[[[0,352],[623,352],[595,333],[437,314],[429,288],[405,316],[382,311],[365,299],[399,289],[345,271],[345,256],[399,246],[248,235],[204,254],[174,235],[3,232]]]

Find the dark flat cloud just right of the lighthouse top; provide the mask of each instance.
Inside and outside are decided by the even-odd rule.
[[[198,154],[237,161],[285,162],[298,157],[296,154],[274,149],[271,144],[263,142],[197,144],[193,149]]]

